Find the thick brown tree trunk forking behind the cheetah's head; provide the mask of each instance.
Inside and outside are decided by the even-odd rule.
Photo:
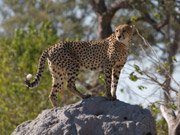
[[[98,39],[104,39],[111,35],[111,20],[116,11],[130,7],[129,0],[114,0],[109,7],[106,6],[104,0],[89,0],[89,3],[98,17]]]

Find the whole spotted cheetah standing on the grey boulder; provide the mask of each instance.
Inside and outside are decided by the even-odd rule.
[[[132,34],[133,26],[122,24],[115,28],[112,35],[103,40],[56,43],[44,50],[39,59],[35,79],[30,82],[32,75],[28,74],[25,80],[26,85],[33,88],[39,84],[47,59],[52,75],[49,99],[53,107],[57,107],[57,95],[66,79],[67,88],[73,94],[82,99],[91,96],[82,94],[75,87],[80,69],[103,71],[106,97],[108,100],[116,100],[116,88],[121,69],[127,60]]]

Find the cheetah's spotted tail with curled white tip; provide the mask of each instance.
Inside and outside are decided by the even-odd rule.
[[[48,57],[48,50],[45,50],[42,53],[42,55],[41,55],[41,57],[39,59],[39,65],[38,65],[38,70],[37,70],[37,73],[36,73],[36,77],[32,82],[30,82],[30,80],[32,78],[32,75],[28,74],[26,76],[25,83],[29,88],[33,88],[33,87],[37,86],[38,83],[40,82],[42,73],[44,71],[44,66],[45,66],[47,57]]]

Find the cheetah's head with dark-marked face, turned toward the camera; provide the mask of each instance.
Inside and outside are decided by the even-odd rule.
[[[128,24],[122,24],[116,27],[115,36],[117,41],[129,46],[131,44],[133,29],[134,27]]]

